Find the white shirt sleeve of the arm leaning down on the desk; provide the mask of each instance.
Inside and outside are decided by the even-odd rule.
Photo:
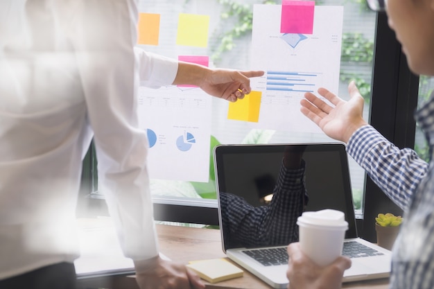
[[[150,259],[157,256],[158,246],[146,166],[148,141],[138,129],[137,3],[89,0],[78,5],[73,42],[94,131],[98,189],[105,194],[125,256]]]

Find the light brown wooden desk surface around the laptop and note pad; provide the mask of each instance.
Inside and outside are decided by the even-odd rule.
[[[193,260],[225,258],[221,247],[220,231],[216,229],[197,229],[157,225],[160,252],[173,261],[188,263]],[[80,280],[79,288],[122,288],[139,289],[133,276],[113,277],[110,284],[105,279]],[[207,289],[270,289],[266,283],[244,270],[244,276],[219,283],[207,283]],[[388,279],[357,281],[344,283],[342,288],[353,289],[386,289]]]

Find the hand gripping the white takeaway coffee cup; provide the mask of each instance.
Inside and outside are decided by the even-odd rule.
[[[351,267],[351,260],[344,256],[320,267],[303,254],[300,243],[288,245],[288,257],[288,289],[340,289],[344,271]]]

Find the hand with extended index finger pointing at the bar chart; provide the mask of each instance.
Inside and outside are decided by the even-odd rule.
[[[235,71],[214,69],[203,80],[200,88],[211,96],[236,101],[250,94],[250,78],[263,76],[263,71]]]

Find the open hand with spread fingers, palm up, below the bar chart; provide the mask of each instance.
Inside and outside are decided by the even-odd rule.
[[[348,92],[350,98],[345,101],[325,88],[318,89],[318,94],[332,105],[306,92],[304,99],[300,101],[300,111],[329,137],[347,143],[358,128],[367,125],[363,120],[363,97],[352,81],[348,85]]]

